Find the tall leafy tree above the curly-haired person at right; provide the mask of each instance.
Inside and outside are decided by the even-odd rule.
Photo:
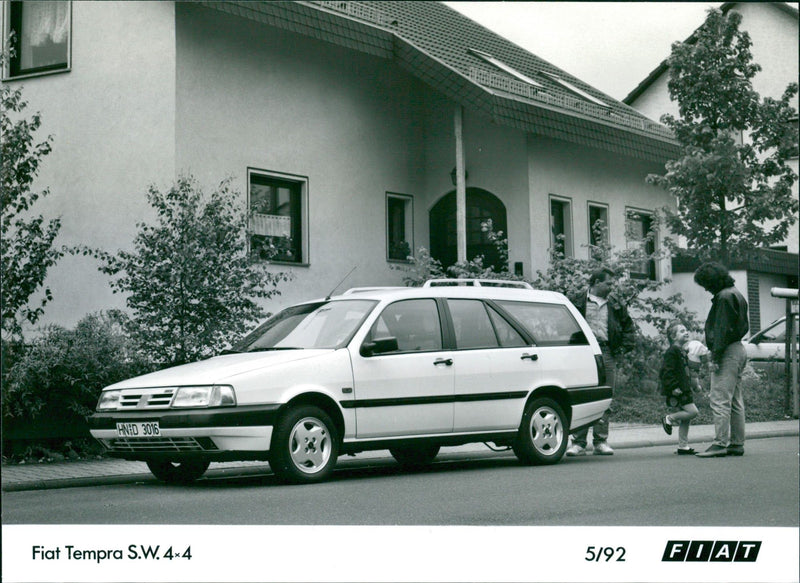
[[[661,121],[682,155],[664,175],[648,177],[677,197],[677,211],[664,209],[672,232],[686,238],[691,253],[723,263],[783,241],[798,212],[797,176],[786,164],[797,155],[790,101],[798,86],[791,83],[777,100],[753,90],[761,67],[752,62],[741,19],[709,10],[692,40],[673,44],[668,88],[680,118]],[[749,139],[740,143],[742,137]]]

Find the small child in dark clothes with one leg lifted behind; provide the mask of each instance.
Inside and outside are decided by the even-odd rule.
[[[667,398],[670,413],[661,421],[664,431],[672,435],[672,426],[678,426],[678,455],[692,455],[689,447],[689,425],[697,417],[697,406],[692,398],[692,377],[689,373],[689,360],[686,344],[689,331],[680,322],[673,322],[667,328],[669,348],[664,353],[661,366],[661,390]]]

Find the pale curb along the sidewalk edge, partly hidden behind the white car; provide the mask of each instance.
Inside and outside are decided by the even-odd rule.
[[[764,430],[756,430],[747,435],[747,439],[762,439],[768,437],[791,437],[795,435],[800,435],[800,431],[797,427],[787,427],[787,428],[780,428],[780,429],[764,429]],[[689,443],[705,443],[710,442],[712,437],[695,437],[690,438]],[[664,435],[663,437],[659,437],[656,439],[638,439],[638,440],[628,440],[622,443],[615,443],[613,444],[614,449],[635,449],[641,447],[658,447],[658,446],[665,446],[665,445],[674,445],[675,438],[674,436],[667,436]],[[466,453],[452,453],[450,457],[461,458],[464,456],[471,456],[471,457],[487,457],[487,456],[496,456],[498,452],[466,452]],[[379,460],[390,460],[391,456],[380,456],[375,457],[373,459],[367,460],[362,458],[360,461],[379,461]],[[251,476],[251,475],[260,475],[270,472],[269,466],[265,463],[261,466],[248,466],[248,467],[232,467],[232,468],[211,468],[206,473],[206,477],[209,478],[226,478],[226,477],[242,477],[242,476]],[[75,477],[75,478],[54,478],[51,480],[44,480],[44,479],[36,479],[36,480],[25,480],[19,481],[9,484],[3,484],[2,491],[3,492],[22,492],[28,490],[53,490],[59,488],[78,488],[78,487],[85,487],[85,486],[95,486],[95,485],[114,485],[114,484],[130,484],[133,482],[156,482],[156,478],[150,474],[149,472],[137,472],[135,474],[119,474],[114,476],[85,476],[85,477]]]

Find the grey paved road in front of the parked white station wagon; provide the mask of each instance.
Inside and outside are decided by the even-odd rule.
[[[798,526],[796,437],[748,442],[742,458],[678,457],[671,446],[521,466],[509,455],[408,472],[342,464],[313,486],[270,474],[6,492],[5,524]],[[592,486],[594,484],[594,486]]]

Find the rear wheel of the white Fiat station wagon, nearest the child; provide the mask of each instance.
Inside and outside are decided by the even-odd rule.
[[[561,406],[552,399],[533,399],[525,407],[519,433],[512,446],[522,463],[558,463],[567,449],[569,432]]]

